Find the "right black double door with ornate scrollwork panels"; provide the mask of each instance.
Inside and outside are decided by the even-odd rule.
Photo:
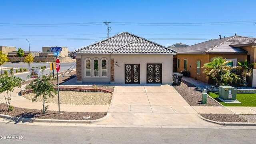
[[[147,64],[147,84],[162,83],[162,64]]]

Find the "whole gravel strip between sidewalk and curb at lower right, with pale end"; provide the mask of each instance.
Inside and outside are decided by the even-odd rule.
[[[217,122],[256,122],[256,115],[244,114],[200,114],[204,118]]]

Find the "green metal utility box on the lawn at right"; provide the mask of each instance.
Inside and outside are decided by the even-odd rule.
[[[223,100],[236,100],[236,88],[232,86],[219,86],[219,97]]]

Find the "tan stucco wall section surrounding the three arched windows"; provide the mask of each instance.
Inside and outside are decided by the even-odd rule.
[[[80,58],[81,57],[81,63],[82,63],[82,82],[86,82],[86,83],[110,83],[110,54],[106,54],[106,55],[92,55],[92,54],[88,54],[88,55],[82,55],[79,56],[77,55],[76,58]],[[91,60],[91,76],[90,77],[86,77],[85,76],[85,60],[89,59]],[[93,61],[97,59],[99,61],[99,76],[95,77],[93,76]],[[101,61],[105,59],[107,60],[107,77],[102,77],[101,76]]]

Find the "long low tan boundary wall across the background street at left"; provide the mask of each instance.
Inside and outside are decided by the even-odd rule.
[[[19,57],[9,57],[10,62],[16,62],[16,61],[20,61]],[[53,62],[55,61],[56,58],[55,57],[51,57],[51,58],[34,58],[34,62],[36,61],[46,61],[46,62]],[[21,61],[24,61],[24,57],[21,58]],[[71,57],[63,57],[60,58],[60,62],[75,62],[76,59],[72,60]]]

